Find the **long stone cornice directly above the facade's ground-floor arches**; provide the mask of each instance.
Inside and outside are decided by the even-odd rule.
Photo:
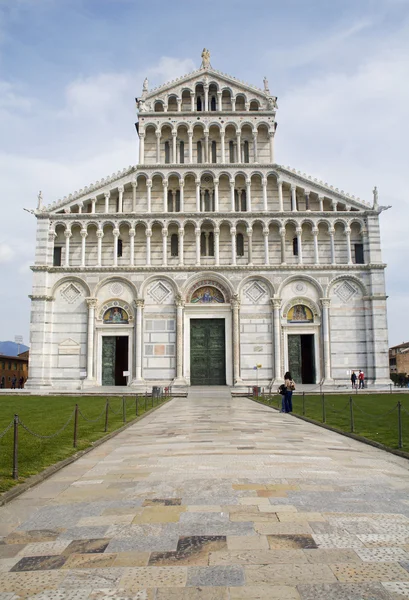
[[[261,271],[268,272],[291,272],[291,273],[302,273],[305,271],[322,271],[324,273],[331,271],[344,271],[346,274],[355,271],[375,271],[383,270],[386,268],[386,264],[374,263],[370,265],[149,265],[149,266],[137,266],[131,267],[129,265],[113,267],[109,266],[89,266],[89,267],[49,267],[46,265],[33,265],[30,267],[32,271],[46,271],[48,273],[150,273],[150,272],[184,272],[184,271],[217,271],[222,273],[223,271],[246,271],[256,272]]]

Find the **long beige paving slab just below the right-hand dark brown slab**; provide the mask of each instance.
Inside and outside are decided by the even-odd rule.
[[[209,565],[274,565],[306,563],[302,550],[231,550],[211,552]]]

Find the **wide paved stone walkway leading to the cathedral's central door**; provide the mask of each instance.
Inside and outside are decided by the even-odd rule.
[[[0,600],[408,597],[408,467],[196,389],[0,509]]]

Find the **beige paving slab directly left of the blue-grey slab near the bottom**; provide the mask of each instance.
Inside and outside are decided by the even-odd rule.
[[[125,568],[118,587],[134,590],[146,587],[185,587],[188,567]]]

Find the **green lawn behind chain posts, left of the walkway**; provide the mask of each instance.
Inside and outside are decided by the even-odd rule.
[[[30,475],[39,473],[46,467],[87,448],[105,433],[105,397],[65,397],[65,396],[0,396],[0,436],[8,424],[18,414],[19,420],[31,431],[40,435],[52,435],[59,431],[73,417],[75,404],[81,413],[78,416],[77,448],[73,447],[74,418],[67,427],[52,439],[39,439],[28,433],[22,425],[18,431],[18,472],[17,481],[13,471],[13,427],[0,439],[0,492],[16,483],[21,483]],[[136,397],[126,400],[126,421],[135,419]],[[156,406],[158,400],[154,400]],[[107,433],[124,424],[122,397],[109,398]],[[152,408],[152,398],[147,399],[147,410]],[[138,416],[145,412],[145,397],[138,398]],[[91,423],[87,421],[94,420]]]

